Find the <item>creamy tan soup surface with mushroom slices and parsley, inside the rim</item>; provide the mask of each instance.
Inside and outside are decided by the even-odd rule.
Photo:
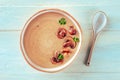
[[[79,41],[74,23],[56,12],[46,12],[34,18],[23,37],[28,58],[44,68],[64,65],[75,54]]]

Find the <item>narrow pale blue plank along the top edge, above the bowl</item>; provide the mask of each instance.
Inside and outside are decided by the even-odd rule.
[[[104,0],[104,1],[99,1],[99,0],[55,0],[55,1],[51,1],[51,0],[0,0],[0,5],[1,6],[34,6],[34,5],[38,5],[40,6],[41,4],[69,4],[69,5],[73,5],[73,4],[81,4],[81,5],[119,5],[119,0]]]

